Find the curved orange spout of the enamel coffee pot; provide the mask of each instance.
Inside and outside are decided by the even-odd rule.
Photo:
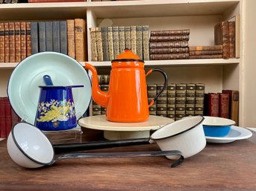
[[[98,80],[98,74],[97,74],[96,68],[93,65],[90,65],[89,63],[85,63],[84,68],[90,70],[93,74],[92,75],[93,100],[96,103],[98,103],[100,106],[107,108],[109,94],[108,94],[108,92],[102,91],[99,88],[99,80]]]

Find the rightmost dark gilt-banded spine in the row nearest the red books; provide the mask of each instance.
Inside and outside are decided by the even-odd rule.
[[[196,106],[195,115],[204,114],[205,84],[196,83]]]

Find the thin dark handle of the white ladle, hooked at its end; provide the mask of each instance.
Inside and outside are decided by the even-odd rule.
[[[60,155],[55,158],[51,164],[56,161],[69,158],[135,158],[135,157],[155,157],[155,156],[169,156],[169,155],[180,155],[177,161],[175,161],[171,167],[178,166],[184,161],[184,157],[178,150],[171,151],[144,151],[144,152],[95,152],[95,153],[69,153],[66,155]],[[50,164],[50,165],[51,165]]]

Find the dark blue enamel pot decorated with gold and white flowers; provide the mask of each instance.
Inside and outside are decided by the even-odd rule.
[[[59,131],[77,126],[72,88],[84,85],[40,85],[35,126],[44,131]]]

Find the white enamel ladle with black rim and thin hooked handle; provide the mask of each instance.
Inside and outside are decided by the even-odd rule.
[[[56,161],[69,158],[125,158],[179,155],[180,158],[172,164],[178,166],[184,157],[178,150],[146,151],[146,152],[98,152],[98,153],[69,153],[55,158],[51,142],[37,127],[29,123],[17,123],[13,126],[7,138],[7,152],[10,158],[25,168],[50,166]]]

